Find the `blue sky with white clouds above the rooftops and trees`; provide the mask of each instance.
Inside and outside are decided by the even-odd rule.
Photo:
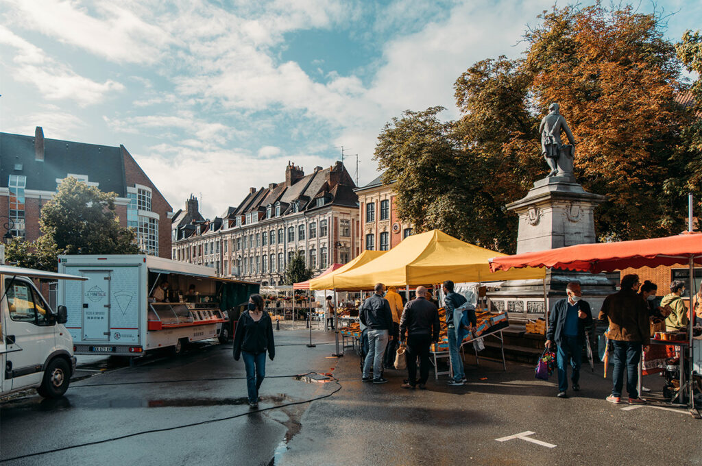
[[[458,76],[517,58],[553,3],[0,0],[0,131],[124,145],[174,211],[192,193],[208,218],[342,146],[366,185],[388,121],[435,105],[455,119]],[[702,25],[702,1],[655,8],[674,41]]]

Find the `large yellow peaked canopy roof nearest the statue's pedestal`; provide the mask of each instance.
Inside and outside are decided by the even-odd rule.
[[[545,277],[545,269],[541,268],[490,272],[488,260],[500,255],[505,254],[465,243],[435,229],[404,239],[365,265],[335,273],[334,286],[341,290],[362,290],[379,282],[385,286],[418,286],[444,280],[462,283]]]

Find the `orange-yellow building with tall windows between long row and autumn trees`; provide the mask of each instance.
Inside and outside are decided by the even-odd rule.
[[[384,185],[378,176],[364,187],[355,189],[361,216],[362,251],[388,251],[412,234],[412,225],[397,215],[392,184]]]

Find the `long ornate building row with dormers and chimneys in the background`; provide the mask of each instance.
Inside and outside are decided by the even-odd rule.
[[[341,162],[309,175],[288,164],[284,182],[250,188],[239,206],[214,220],[200,220],[191,197],[173,216],[173,259],[264,286],[283,284],[296,251],[314,274],[333,262],[345,264],[361,248],[354,188]]]

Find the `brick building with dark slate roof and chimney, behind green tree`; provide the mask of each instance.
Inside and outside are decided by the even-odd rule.
[[[171,205],[128,150],[47,139],[41,126],[34,136],[0,133],[0,225],[13,237],[36,240],[41,207],[69,176],[117,194],[120,225],[136,230],[146,253],[171,257]]]

